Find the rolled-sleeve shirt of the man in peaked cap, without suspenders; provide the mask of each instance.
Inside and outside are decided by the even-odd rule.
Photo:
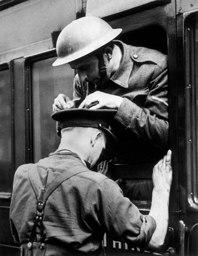
[[[36,213],[36,197],[28,177],[31,165],[20,166],[14,176],[10,222],[19,244],[28,242]],[[44,187],[70,168],[86,172],[65,180],[48,197],[43,217],[45,242],[66,248],[72,255],[94,253],[101,251],[106,232],[113,240],[129,246],[146,246],[156,228],[155,220],[142,215],[114,181],[88,170],[80,157],[70,151],[54,152],[38,162]],[[38,241],[39,236],[37,229]]]

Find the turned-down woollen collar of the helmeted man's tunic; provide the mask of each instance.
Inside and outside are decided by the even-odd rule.
[[[133,68],[130,46],[118,40],[114,40],[114,43],[120,47],[123,56],[118,70],[113,74],[110,80],[124,88],[128,88],[128,80]]]

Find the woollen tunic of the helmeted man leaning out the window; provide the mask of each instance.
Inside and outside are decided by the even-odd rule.
[[[76,107],[86,96],[99,90],[124,98],[115,119],[138,137],[160,148],[168,145],[167,56],[144,47],[114,43],[123,53],[122,62],[102,86],[74,79]]]

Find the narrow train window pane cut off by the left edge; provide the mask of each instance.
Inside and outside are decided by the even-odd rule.
[[[0,66],[0,197],[12,191],[12,121],[10,69]]]

